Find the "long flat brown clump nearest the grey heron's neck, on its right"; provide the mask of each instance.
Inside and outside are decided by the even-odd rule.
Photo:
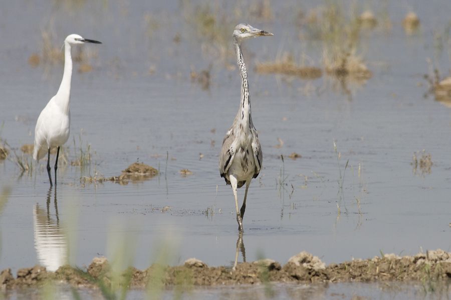
[[[255,70],[259,73],[293,75],[301,79],[316,79],[323,75],[323,71],[319,67],[297,65],[291,55],[285,55],[278,61],[258,63]]]

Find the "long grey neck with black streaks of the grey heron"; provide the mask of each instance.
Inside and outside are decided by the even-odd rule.
[[[248,70],[243,60],[243,53],[240,44],[235,41],[235,51],[237,52],[237,63],[241,74],[241,102],[238,110],[239,120],[244,128],[253,126],[251,116],[251,95],[249,94]]]

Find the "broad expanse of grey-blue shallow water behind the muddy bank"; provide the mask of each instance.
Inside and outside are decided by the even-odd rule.
[[[39,263],[54,269],[67,252],[72,263],[87,265],[94,256],[111,258],[124,242],[138,268],[154,261],[161,244],[170,247],[169,263],[195,256],[210,265],[231,264],[238,226],[232,190],[219,177],[217,159],[238,109],[239,77],[224,65],[234,65],[235,58],[214,56],[215,45],[179,17],[186,9],[179,1],[70,3],[13,1],[0,12],[2,39],[8,41],[0,45],[1,137],[18,153],[22,144],[33,142],[36,119],[62,74],[62,64],[33,68],[27,62],[40,52],[41,29],[51,28],[58,40],[76,30],[103,41],[85,45],[97,53],[90,60],[94,70],[79,73],[76,63],[72,78],[69,159],[75,157],[73,140],[78,145],[81,135],[83,144],[91,144],[91,166],[60,166],[58,187],[49,190],[45,161],[31,175],[21,175],[11,160],[0,162],[1,185],[12,187],[0,218],[0,268],[16,271]],[[389,3],[392,30],[376,30],[362,41],[374,76],[349,96],[327,76],[303,81],[253,70],[256,61],[274,60],[281,51],[305,51],[320,63],[318,42],[297,38],[290,21],[295,13],[287,3],[273,4],[273,21],[250,17],[250,23],[275,35],[249,41],[244,49],[264,152],[244,219],[246,259],[263,255],[284,263],[307,250],[330,263],[380,251],[451,250],[451,114],[423,97],[422,78],[426,57],[443,73],[448,69],[446,50],[437,53],[433,33],[443,32],[451,4]],[[307,9],[315,2],[303,5]],[[422,22],[412,36],[401,26],[409,7]],[[157,23],[151,29],[149,19]],[[173,41],[176,32],[180,42]],[[210,88],[202,90],[189,73],[209,64]],[[278,138],[284,142],[280,148]],[[334,140],[342,171],[349,159],[342,199]],[[431,154],[430,173],[413,172],[412,154],[422,149]],[[302,157],[288,158],[292,152]],[[95,172],[118,175],[137,160],[159,168],[160,176],[128,185],[80,183],[81,176]],[[181,176],[183,168],[193,174]],[[282,187],[281,177],[286,177]],[[165,206],[170,208],[162,212]]]

